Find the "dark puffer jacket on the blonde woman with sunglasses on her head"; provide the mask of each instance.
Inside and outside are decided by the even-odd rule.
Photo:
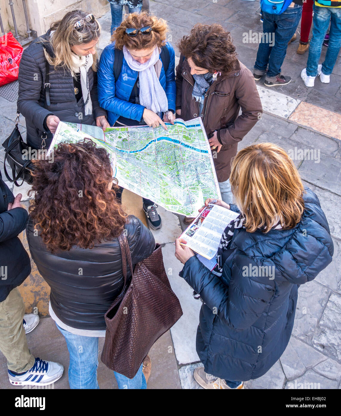
[[[17,107],[26,119],[27,143],[35,149],[41,147],[41,135],[46,131],[43,123],[49,114],[54,114],[61,121],[83,124],[95,124],[96,117],[107,116],[107,111],[98,104],[97,73],[92,68],[88,70],[88,77],[93,114],[85,116],[83,97],[77,102],[71,72],[64,73],[63,69],[55,71],[53,66],[50,66],[49,78],[51,105],[44,108],[46,59],[43,43],[49,55],[54,57],[51,44],[48,42],[49,35],[50,30],[29,45],[24,50],[19,65]],[[46,146],[49,146],[52,134],[49,133],[47,137]]]

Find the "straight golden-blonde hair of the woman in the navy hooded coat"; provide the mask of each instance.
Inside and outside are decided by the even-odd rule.
[[[284,230],[295,227],[304,211],[303,185],[295,165],[284,149],[272,143],[245,147],[232,162],[231,191],[253,233],[278,219]]]

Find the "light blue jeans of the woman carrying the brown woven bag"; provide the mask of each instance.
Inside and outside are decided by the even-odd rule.
[[[57,324],[56,324],[57,325]],[[99,389],[97,383],[98,337],[84,337],[58,327],[63,334],[70,355],[70,389]],[[133,379],[117,373],[114,375],[119,389],[146,389],[147,383],[142,372],[142,364]]]

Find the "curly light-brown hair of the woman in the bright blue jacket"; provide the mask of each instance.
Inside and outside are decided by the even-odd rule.
[[[141,29],[146,26],[152,28],[149,35],[142,35],[141,32],[138,32],[136,36],[128,36],[126,33],[126,29],[131,27]],[[157,47],[164,45],[167,31],[166,20],[158,19],[146,12],[130,13],[124,17],[121,25],[114,31],[111,40],[115,41],[115,48],[120,50],[123,49],[123,46],[127,49],[149,49],[155,45]]]

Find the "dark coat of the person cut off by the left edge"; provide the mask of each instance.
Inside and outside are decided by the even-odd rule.
[[[3,302],[31,273],[31,262],[17,237],[26,227],[27,210],[19,207],[7,211],[14,196],[2,178],[0,188],[0,302]]]

